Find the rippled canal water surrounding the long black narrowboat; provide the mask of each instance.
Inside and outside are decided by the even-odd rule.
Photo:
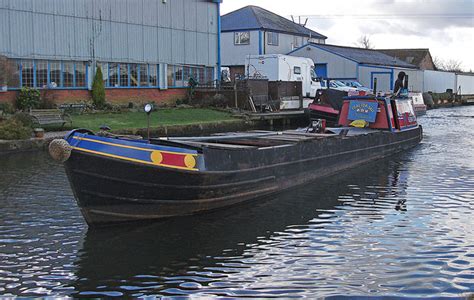
[[[60,164],[0,158],[0,295],[467,296],[474,106],[413,150],[202,216],[88,230]]]

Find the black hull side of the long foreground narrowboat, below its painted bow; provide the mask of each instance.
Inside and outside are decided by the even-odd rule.
[[[82,214],[96,226],[224,208],[407,150],[421,138],[417,127],[259,150],[204,148],[206,170],[197,172],[73,150],[65,167]]]

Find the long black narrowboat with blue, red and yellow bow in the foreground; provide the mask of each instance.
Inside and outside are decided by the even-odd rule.
[[[346,97],[338,127],[134,139],[77,129],[50,144],[89,226],[223,209],[407,150],[412,102]],[[361,126],[362,124],[362,126]]]

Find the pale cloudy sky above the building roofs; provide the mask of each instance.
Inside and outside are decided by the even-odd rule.
[[[224,0],[222,14],[246,5],[308,18],[328,44],[355,46],[367,35],[375,48],[429,48],[474,71],[474,0]]]

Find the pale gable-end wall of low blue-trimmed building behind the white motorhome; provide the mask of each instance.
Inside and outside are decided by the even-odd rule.
[[[357,63],[339,55],[318,49],[314,46],[305,46],[291,52],[292,56],[311,58],[315,64],[327,64],[328,78],[356,79]]]

